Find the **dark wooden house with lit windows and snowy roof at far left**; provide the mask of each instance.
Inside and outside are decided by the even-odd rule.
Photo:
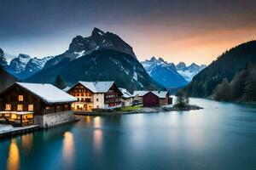
[[[15,82],[0,94],[0,122],[51,127],[74,119],[72,95],[51,84]]]

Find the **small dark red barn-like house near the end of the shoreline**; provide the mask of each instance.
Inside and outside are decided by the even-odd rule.
[[[168,91],[151,91],[143,95],[143,107],[160,107],[169,104]]]

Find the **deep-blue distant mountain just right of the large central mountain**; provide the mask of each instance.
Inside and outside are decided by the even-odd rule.
[[[154,81],[159,82],[165,88],[177,88],[186,85],[188,82],[177,72],[176,65],[167,63],[164,59],[155,59],[142,62],[143,67]]]

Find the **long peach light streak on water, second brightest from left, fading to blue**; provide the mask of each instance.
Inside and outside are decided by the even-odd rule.
[[[74,161],[74,142],[73,141],[74,141],[73,133],[70,133],[70,132],[64,133],[63,158],[68,166],[72,166]]]

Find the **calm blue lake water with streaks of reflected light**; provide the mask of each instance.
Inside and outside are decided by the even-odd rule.
[[[201,111],[80,116],[0,140],[0,169],[256,169],[256,105],[190,99]]]

